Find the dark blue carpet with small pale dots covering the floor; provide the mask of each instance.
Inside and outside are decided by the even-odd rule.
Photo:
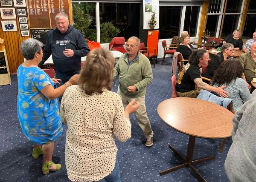
[[[189,168],[182,168],[163,176],[159,175],[160,171],[180,164],[180,160],[175,157],[168,145],[171,144],[181,154],[186,155],[189,137],[169,128],[157,114],[159,103],[171,97],[171,59],[167,58],[164,65],[156,64],[156,67],[152,69],[154,81],[147,89],[146,106],[154,131],[154,145],[151,148],[145,147],[144,135],[134,115],[131,115],[131,139],[125,143],[116,140],[122,182],[198,181]],[[116,90],[117,85],[114,88],[114,91]],[[12,85],[0,87],[0,182],[69,181],[65,168],[67,125],[64,125],[64,133],[55,142],[52,158],[53,162],[61,163],[62,167],[59,171],[50,172],[45,176],[41,172],[43,157],[32,158],[32,143],[24,137],[21,131],[16,104],[17,77],[12,75]],[[215,159],[211,161],[195,165],[195,168],[209,182],[228,181],[224,171],[224,161],[231,145],[231,139],[227,139],[224,151],[219,153],[221,142],[221,139],[200,138],[196,138],[195,141],[193,159],[215,156]]]

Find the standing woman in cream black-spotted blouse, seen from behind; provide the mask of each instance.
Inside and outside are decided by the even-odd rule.
[[[131,137],[129,114],[139,103],[124,109],[112,92],[114,58],[110,51],[94,49],[87,54],[79,85],[64,93],[61,119],[67,122],[66,168],[71,181],[120,182],[114,136],[125,142]]]

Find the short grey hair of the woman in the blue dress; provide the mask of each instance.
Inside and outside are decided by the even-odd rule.
[[[41,54],[41,48],[43,46],[44,44],[41,43],[39,40],[30,38],[22,41],[20,45],[20,50],[26,60],[32,60],[34,59],[36,52],[38,54]]]

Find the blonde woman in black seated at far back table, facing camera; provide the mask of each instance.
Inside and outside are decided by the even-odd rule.
[[[243,40],[239,38],[240,35],[241,31],[239,29],[236,29],[235,31],[233,31],[232,35],[225,37],[222,43],[232,43],[235,47],[235,50],[241,50],[243,48]]]

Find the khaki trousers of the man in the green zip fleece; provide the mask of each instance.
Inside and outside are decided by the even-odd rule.
[[[146,138],[153,137],[154,133],[151,129],[150,121],[148,119],[148,115],[146,112],[145,96],[130,98],[122,94],[119,91],[119,88],[118,88],[117,94],[119,94],[119,96],[121,97],[124,108],[128,105],[129,102],[131,102],[132,99],[135,99],[140,103],[139,108],[137,109],[137,111],[134,112],[137,123],[142,129]]]

